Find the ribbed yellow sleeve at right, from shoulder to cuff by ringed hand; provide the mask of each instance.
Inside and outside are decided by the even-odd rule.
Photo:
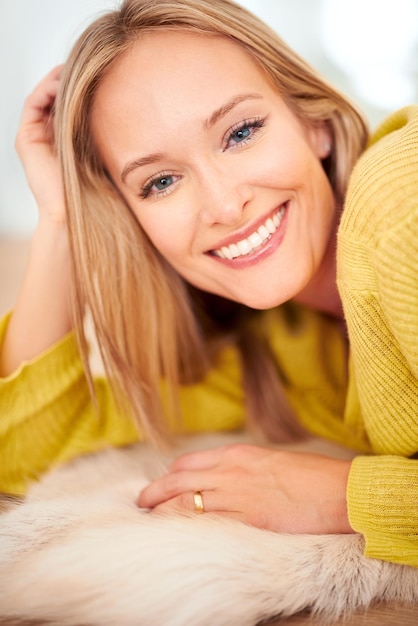
[[[355,402],[375,456],[350,472],[350,523],[370,557],[418,566],[418,108],[378,131],[354,169],[339,232],[338,285]],[[350,412],[352,415],[350,415]]]

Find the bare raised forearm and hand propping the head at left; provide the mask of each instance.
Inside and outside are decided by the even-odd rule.
[[[2,377],[50,347],[72,326],[64,194],[52,114],[60,71],[60,67],[51,71],[27,98],[16,139],[39,220],[0,354]]]

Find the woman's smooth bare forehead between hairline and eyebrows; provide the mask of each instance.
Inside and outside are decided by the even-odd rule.
[[[143,34],[118,59],[99,85],[97,114],[140,112],[153,119],[170,112],[206,116],[246,86],[265,89],[264,72],[239,44],[186,31]],[[181,109],[181,111],[180,111]]]

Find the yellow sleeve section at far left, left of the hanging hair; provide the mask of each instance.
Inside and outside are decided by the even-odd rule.
[[[8,321],[0,322],[0,345]],[[96,393],[98,412],[71,333],[0,379],[0,491],[23,493],[55,463],[138,439],[133,424],[118,415],[104,379]]]

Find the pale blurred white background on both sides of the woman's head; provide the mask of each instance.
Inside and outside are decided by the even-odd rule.
[[[36,207],[14,139],[26,95],[118,0],[0,0],[0,238],[27,237]],[[349,95],[372,127],[418,102],[418,0],[241,0]]]

